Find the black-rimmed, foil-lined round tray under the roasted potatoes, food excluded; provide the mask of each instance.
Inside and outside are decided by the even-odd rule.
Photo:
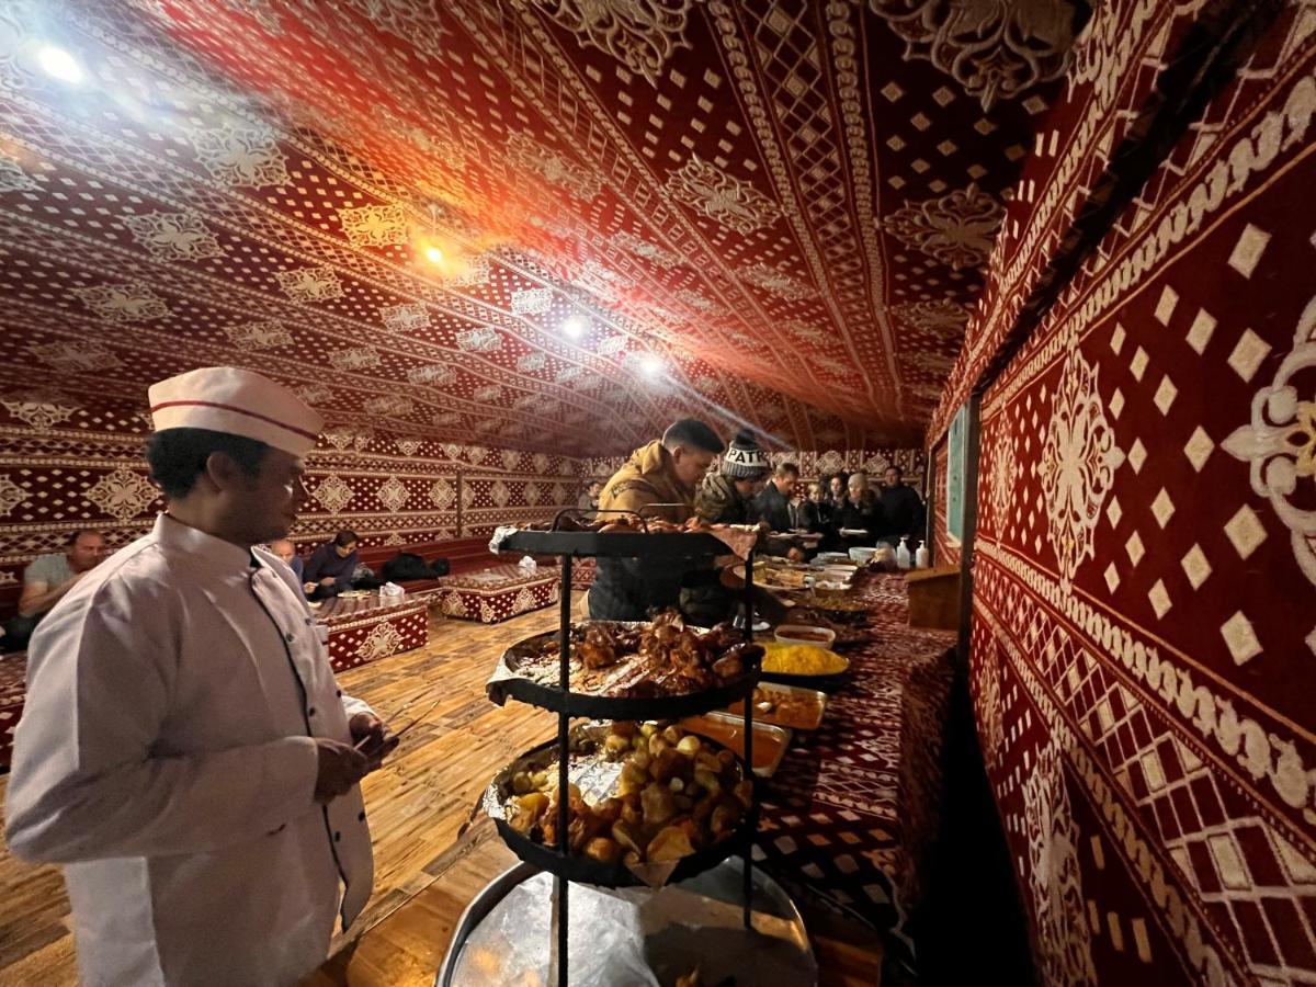
[[[603,733],[607,733],[607,729],[608,726],[605,724],[578,725],[572,730],[572,742],[584,737],[586,732],[597,730],[601,736]],[[708,740],[707,737],[701,738],[701,741],[716,750],[722,750],[722,746],[716,741]],[[551,740],[546,744],[538,745],[537,747],[532,747],[494,775],[494,780],[490,783],[488,788],[484,790],[484,797],[482,800],[484,812],[494,820],[494,825],[497,828],[497,833],[503,837],[503,842],[507,844],[508,849],[526,863],[533,865],[538,870],[557,874],[567,880],[594,884],[596,887],[658,887],[694,878],[696,874],[701,874],[709,867],[716,867],[728,857],[745,851],[749,844],[749,836],[754,832],[754,822],[757,821],[757,791],[753,807],[746,811],[740,825],[730,833],[730,836],[717,844],[713,844],[712,846],[707,846],[687,857],[682,857],[679,861],[647,866],[642,865],[644,876],[636,874],[620,861],[617,863],[604,863],[580,854],[567,854],[563,857],[558,853],[555,846],[545,846],[544,844],[538,844],[528,836],[519,833],[507,822],[505,812],[507,803],[515,797],[509,794],[512,775],[517,771],[525,770],[526,767],[546,770],[549,765],[554,765],[551,771],[555,772],[557,746],[557,740]],[[737,761],[741,766],[741,776],[744,778],[746,776],[745,762],[740,761],[740,758],[737,758]],[[596,757],[592,754],[574,753],[571,755],[571,762],[567,766],[571,783],[578,786],[582,795],[584,795],[590,801],[599,801],[600,799],[607,797],[608,794],[615,790],[616,778],[620,771],[620,762],[604,761],[601,755]],[[754,776],[749,775],[749,778],[750,783],[755,784]]]

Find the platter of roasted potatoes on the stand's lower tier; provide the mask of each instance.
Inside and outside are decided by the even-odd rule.
[[[634,754],[630,749],[616,750],[609,746],[609,741],[615,736],[612,730],[621,725],[588,722],[578,724],[571,730],[567,776],[569,783],[575,786],[578,792],[572,792],[572,822],[567,833],[576,846],[566,857],[557,850],[555,833],[541,828],[545,824],[554,824],[558,813],[554,795],[558,776],[557,741],[541,744],[526,751],[494,776],[492,783],[484,791],[482,804],[508,848],[522,861],[541,870],[558,874],[567,880],[599,887],[640,884],[662,887],[691,878],[729,855],[742,851],[751,832],[754,816],[753,779],[745,778],[744,763],[720,744],[690,737],[690,740],[699,741],[697,749],[701,754],[712,755],[721,765],[717,772],[709,772],[707,767],[700,769],[701,761],[694,759],[697,755],[680,754],[678,747],[672,745],[662,746],[661,753],[650,758],[649,770],[638,769],[632,763]],[[634,726],[634,724],[625,725]],[[665,728],[658,736],[671,734],[672,730],[675,736],[686,740],[687,732],[676,728]],[[650,744],[653,736],[642,740]],[[642,747],[646,754],[651,749]],[[625,763],[622,758],[626,758]],[[661,771],[659,765],[669,765],[671,774],[666,775]],[[636,780],[637,774],[633,774],[633,770],[644,780]],[[650,770],[654,774],[650,774]],[[707,788],[699,787],[700,770],[713,775]],[[663,780],[658,782],[654,775]],[[672,800],[680,797],[679,792],[650,792],[650,787],[667,788],[671,778],[683,775],[690,775],[684,782],[686,792],[701,792],[695,807],[680,808],[675,805]],[[538,780],[540,776],[542,776],[542,784]],[[736,782],[734,791],[730,784],[733,780]],[[547,787],[544,787],[545,784]],[[715,790],[713,784],[720,784],[721,790]],[[626,791],[638,792],[638,795],[621,795]],[[576,795],[583,800],[583,808],[576,801]],[[650,795],[654,795],[655,799],[650,799]],[[544,796],[547,799],[546,804],[542,803]],[[657,796],[662,796],[661,801],[657,800]],[[611,811],[626,811],[619,805],[612,805],[609,809],[605,803],[620,803],[622,799],[640,807],[638,819],[626,816],[605,821]],[[701,822],[694,822],[694,813],[701,805],[707,805],[708,800],[715,803],[715,807],[709,808],[711,815],[707,815]],[[580,811],[578,812],[578,809]],[[658,821],[654,821],[655,819]],[[683,819],[691,821],[682,821]],[[626,828],[619,832],[619,825]],[[680,832],[672,833],[671,830]],[[603,850],[595,849],[600,841],[613,844],[603,848],[608,851],[607,855]],[[625,851],[626,844],[636,848],[625,854],[625,857],[632,857],[629,861],[620,855]],[[680,853],[686,848],[690,848],[691,851]]]

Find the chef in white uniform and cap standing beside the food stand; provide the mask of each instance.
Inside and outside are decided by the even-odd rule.
[[[33,637],[5,837],[64,865],[84,983],[290,984],[370,898],[357,783],[393,744],[251,547],[296,520],[324,422],[232,367],[150,404],[168,509]]]

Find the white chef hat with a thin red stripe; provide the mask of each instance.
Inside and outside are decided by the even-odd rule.
[[[146,393],[157,432],[225,432],[297,457],[315,449],[325,424],[287,387],[237,367],[190,370],[153,384]]]

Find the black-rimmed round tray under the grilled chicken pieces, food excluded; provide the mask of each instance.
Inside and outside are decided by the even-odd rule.
[[[737,699],[744,699],[754,691],[759,679],[755,667],[749,674],[726,684],[675,696],[629,699],[576,692],[575,690],[563,694],[557,683],[545,686],[521,674],[521,657],[538,644],[555,641],[557,637],[557,630],[546,630],[508,647],[499,659],[494,676],[484,686],[490,700],[503,705],[508,699],[516,699],[541,709],[591,720],[679,720],[686,716],[699,716],[722,709]]]

